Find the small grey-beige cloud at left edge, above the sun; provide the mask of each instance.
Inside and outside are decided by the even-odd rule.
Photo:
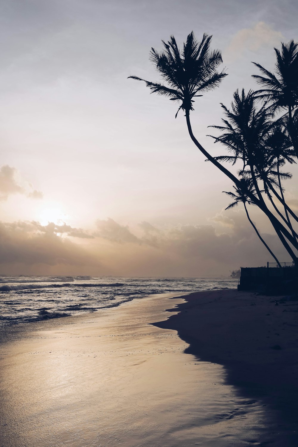
[[[16,168],[4,165],[0,169],[0,200],[7,200],[9,195],[24,194],[29,198],[41,199],[42,193],[34,190],[30,183],[24,182],[18,176]]]

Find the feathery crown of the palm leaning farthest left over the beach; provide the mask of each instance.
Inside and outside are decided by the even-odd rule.
[[[150,82],[138,76],[129,78],[144,81],[151,93],[164,95],[171,101],[181,101],[176,117],[180,109],[189,112],[193,110],[194,97],[218,87],[222,78],[227,76],[224,71],[217,71],[217,67],[222,64],[222,55],[219,50],[210,49],[211,38],[204,33],[199,42],[192,31],[181,51],[174,36],[167,43],[162,41],[164,51],[158,52],[151,48],[150,59],[168,85]]]

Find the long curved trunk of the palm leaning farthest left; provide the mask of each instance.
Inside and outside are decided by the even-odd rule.
[[[214,166],[216,166],[222,173],[224,173],[227,177],[231,179],[235,183],[236,186],[238,186],[241,189],[241,184],[239,180],[230,172],[228,169],[226,169],[224,166],[222,166],[220,163],[218,163],[217,160],[214,160],[214,157],[212,157],[209,152],[207,152],[203,146],[197,141],[196,137],[193,135],[193,130],[190,124],[189,119],[189,110],[185,110],[185,117],[187,122],[187,128],[189,131],[189,136],[192,139],[193,143],[197,146],[197,148],[202,152],[206,158],[211,161]],[[259,199],[257,199],[253,194],[248,194],[248,197],[252,200],[253,203],[255,203],[268,217],[270,220],[275,232],[277,233],[277,236],[281,240],[282,245],[285,247],[286,251],[290,254],[293,261],[297,261],[297,256],[294,254],[293,250],[291,249],[288,242],[285,240],[285,237],[289,242],[295,247],[295,249],[298,250],[298,243],[297,240],[293,237],[292,234],[282,225],[282,223],[272,214],[271,211],[266,207],[264,200],[261,202]],[[264,203],[264,204],[263,204]],[[285,237],[284,237],[285,236]]]

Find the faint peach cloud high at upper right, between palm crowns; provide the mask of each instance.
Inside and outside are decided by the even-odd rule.
[[[236,59],[242,55],[243,51],[258,51],[262,46],[278,45],[284,36],[279,31],[275,31],[270,25],[260,21],[252,28],[243,28],[239,30],[231,39],[230,45],[226,49],[226,53],[232,59]]]

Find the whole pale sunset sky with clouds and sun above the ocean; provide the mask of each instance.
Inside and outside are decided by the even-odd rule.
[[[191,120],[222,154],[206,136],[219,104],[256,89],[252,61],[273,70],[273,47],[298,40],[297,13],[294,0],[1,0],[0,273],[212,277],[271,261],[243,209],[224,211],[231,182],[176,104],[127,77],[158,80],[149,51],[171,34],[212,34],[228,76]]]

